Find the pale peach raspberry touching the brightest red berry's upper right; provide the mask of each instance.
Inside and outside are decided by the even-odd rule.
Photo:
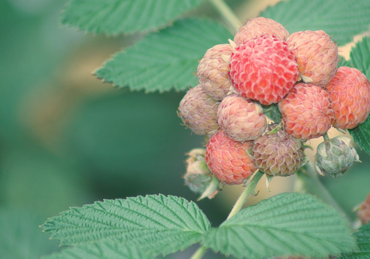
[[[324,88],[337,70],[337,44],[324,31],[292,33],[287,44],[297,57],[303,82]]]

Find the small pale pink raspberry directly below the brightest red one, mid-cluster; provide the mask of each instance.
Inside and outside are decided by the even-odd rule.
[[[222,100],[217,116],[221,129],[235,141],[256,139],[267,127],[262,106],[236,94]]]

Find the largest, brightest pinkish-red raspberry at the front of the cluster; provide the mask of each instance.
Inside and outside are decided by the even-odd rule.
[[[235,49],[229,74],[240,95],[270,105],[282,100],[294,86],[298,65],[285,42],[263,35]]]

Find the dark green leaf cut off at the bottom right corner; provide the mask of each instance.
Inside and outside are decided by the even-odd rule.
[[[370,258],[370,223],[361,226],[359,231],[353,234],[359,249],[353,253],[347,253],[338,259],[366,259]]]

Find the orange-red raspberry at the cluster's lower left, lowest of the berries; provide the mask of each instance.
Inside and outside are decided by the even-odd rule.
[[[247,154],[251,142],[236,142],[219,130],[209,139],[205,160],[209,170],[224,184],[242,184],[257,170]]]

